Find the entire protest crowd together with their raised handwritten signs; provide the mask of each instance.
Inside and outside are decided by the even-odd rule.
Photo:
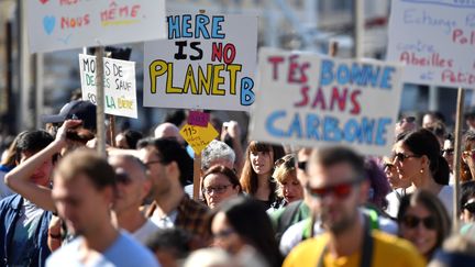
[[[42,126],[4,138],[0,121],[0,267],[475,266],[475,110],[457,103],[455,126],[399,110],[404,82],[475,86],[475,60],[460,63],[475,3],[441,2],[393,0],[379,62],[339,58],[331,42],[325,55],[257,49],[253,14],[29,1],[32,54],[96,48],[78,56],[80,92]],[[423,43],[422,26],[461,53]],[[103,55],[133,42],[143,101],[131,51]],[[137,105],[166,115],[115,125],[140,121]]]

